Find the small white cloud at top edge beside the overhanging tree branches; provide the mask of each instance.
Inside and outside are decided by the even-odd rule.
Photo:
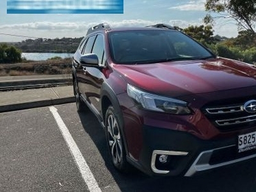
[[[168,9],[180,11],[204,11],[204,4],[205,0],[189,1],[186,4],[178,4],[177,6],[172,6]]]

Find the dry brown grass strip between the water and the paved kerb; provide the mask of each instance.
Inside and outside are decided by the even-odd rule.
[[[0,76],[56,75],[71,74],[71,72],[72,64],[70,58],[0,64]]]

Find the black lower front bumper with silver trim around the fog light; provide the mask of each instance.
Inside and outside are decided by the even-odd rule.
[[[165,163],[161,155],[168,157]],[[200,140],[188,132],[143,127],[143,148],[137,163],[148,175],[192,176],[256,157],[256,150],[238,153],[237,138]]]

